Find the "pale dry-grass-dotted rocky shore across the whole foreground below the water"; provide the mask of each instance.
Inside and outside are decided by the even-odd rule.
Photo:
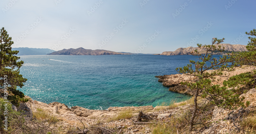
[[[246,119],[244,116],[249,112],[255,111],[256,107],[256,90],[255,88],[249,90],[246,94],[242,94],[249,100],[250,105],[246,109],[238,108],[238,110],[224,110],[217,106],[207,113],[211,116],[211,119],[206,120],[205,124],[209,124],[208,127],[202,127],[191,133],[247,133],[246,130],[240,125],[241,120]],[[69,109],[65,104],[59,102],[43,103],[36,100],[32,100],[22,103],[22,106],[26,106],[27,111],[37,112],[37,110],[43,110],[47,114],[59,119],[55,128],[63,133],[69,133],[70,130],[77,130],[84,133],[87,128],[92,126],[99,128],[112,128],[117,133],[122,134],[153,134],[156,133],[155,125],[166,125],[172,122],[174,118],[183,117],[183,114],[189,111],[191,104],[188,101],[175,103],[175,107],[170,106],[129,106],[129,107],[110,107],[108,110],[89,110],[79,106],[73,106]],[[199,100],[199,104],[205,104],[206,100]],[[185,104],[185,105],[184,105]],[[113,117],[119,115],[123,111],[133,111],[133,117],[130,119],[113,120]],[[136,122],[139,115],[139,111],[143,111],[145,115],[152,116],[153,121],[149,122]],[[26,111],[25,111],[26,112]],[[27,112],[28,117],[32,117],[32,112]],[[83,125],[86,129],[82,129]],[[47,124],[46,124],[47,125]],[[175,125],[175,124],[174,124]],[[182,133],[182,132],[179,132]]]

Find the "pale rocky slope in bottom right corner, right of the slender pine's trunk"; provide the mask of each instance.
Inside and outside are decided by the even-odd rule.
[[[255,111],[256,106],[256,90],[255,88],[249,90],[247,93],[242,94],[240,97],[244,96],[245,99],[243,102],[250,101],[250,105],[243,109],[238,108],[237,110],[224,110],[222,108],[218,108],[215,106],[215,109],[212,113],[212,119],[207,122],[211,122],[212,124],[209,128],[202,131],[202,134],[210,134],[210,133],[247,133],[247,131],[243,130],[240,126],[239,122],[243,120],[243,116],[247,115],[250,111]]]

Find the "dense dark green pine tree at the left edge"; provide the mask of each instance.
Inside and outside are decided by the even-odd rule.
[[[9,37],[7,31],[2,28],[0,31],[0,93],[4,94],[7,90],[9,95],[23,98],[24,93],[16,90],[16,88],[21,88],[24,86],[23,83],[27,81],[19,74],[19,69],[24,62],[18,61],[20,57],[15,56],[19,51],[12,50],[11,45],[14,42],[11,40],[12,37]],[[4,91],[4,89],[6,90]],[[11,97],[9,95],[8,97]]]

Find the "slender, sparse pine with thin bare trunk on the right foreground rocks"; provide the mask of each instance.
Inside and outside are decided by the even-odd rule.
[[[220,86],[219,84],[213,85],[212,82],[218,82],[215,80],[215,76],[225,76],[223,71],[233,71],[236,66],[239,66],[235,61],[237,56],[233,53],[220,57],[219,59],[213,58],[211,51],[224,51],[224,47],[216,44],[223,42],[225,38],[212,39],[211,45],[197,44],[199,48],[205,48],[206,53],[200,54],[197,50],[191,52],[193,56],[198,56],[198,61],[189,60],[190,64],[184,66],[183,68],[176,68],[178,73],[194,76],[194,79],[182,82],[186,85],[189,90],[194,93],[194,106],[192,110],[192,115],[189,120],[189,130],[192,131],[194,126],[194,119],[198,115],[198,104],[197,97],[206,98],[210,103],[217,105],[218,107],[224,109],[236,109],[238,106],[244,106],[242,100],[244,98],[239,98],[236,94],[236,90],[227,89],[227,84]]]

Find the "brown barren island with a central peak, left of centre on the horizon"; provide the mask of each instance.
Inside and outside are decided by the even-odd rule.
[[[108,50],[91,50],[91,49],[84,49],[82,47],[77,49],[63,49],[56,52],[49,53],[47,55],[124,55],[128,53],[120,53],[120,52],[113,52]]]

